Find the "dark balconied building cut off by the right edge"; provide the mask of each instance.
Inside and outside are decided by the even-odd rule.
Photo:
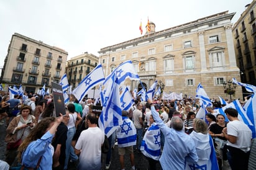
[[[235,56],[242,83],[256,86],[256,1],[246,7],[232,29]]]

